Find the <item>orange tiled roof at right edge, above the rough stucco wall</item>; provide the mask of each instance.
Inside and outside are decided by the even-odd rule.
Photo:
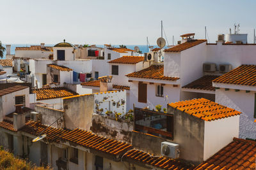
[[[256,65],[242,65],[213,80],[216,83],[256,85]]]

